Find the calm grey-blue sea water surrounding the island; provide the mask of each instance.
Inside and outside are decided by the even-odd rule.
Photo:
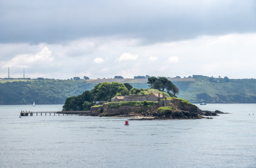
[[[19,118],[62,105],[0,105],[0,167],[255,167],[256,104],[196,105],[232,114],[126,126],[128,118]]]

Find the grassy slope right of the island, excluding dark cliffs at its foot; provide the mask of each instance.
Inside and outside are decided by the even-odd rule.
[[[231,82],[218,83],[210,82],[207,78],[198,78],[194,82],[173,82],[180,89],[178,97],[189,100],[190,102],[202,102],[196,95],[207,93],[209,96],[218,100],[216,94],[220,94],[231,99],[234,95],[245,98],[245,102],[255,103],[252,98],[256,96],[256,82],[254,79],[231,79]],[[236,100],[231,100],[236,102]],[[218,102],[217,102],[218,103]]]

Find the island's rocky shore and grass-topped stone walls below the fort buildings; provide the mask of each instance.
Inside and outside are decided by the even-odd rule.
[[[92,110],[91,110],[92,111]],[[105,103],[102,112],[92,113],[95,116],[115,117],[152,117],[150,119],[200,119],[203,116],[217,116],[221,111],[203,111],[196,105],[183,99],[167,98],[159,102],[114,102]],[[153,118],[154,117],[154,118]],[[208,118],[208,117],[207,117]]]

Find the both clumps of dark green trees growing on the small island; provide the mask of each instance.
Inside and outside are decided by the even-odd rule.
[[[173,91],[174,94],[178,94],[178,87],[175,86],[171,81],[165,77],[156,78],[149,77],[148,84],[151,88],[165,91],[168,89],[168,93]],[[138,94],[142,92],[143,89],[132,88],[129,83],[119,83],[119,82],[103,82],[98,83],[91,91],[84,91],[78,96],[68,97],[63,105],[63,110],[65,111],[87,111],[93,106],[94,101],[109,101],[114,96],[125,96],[130,94]],[[171,94],[172,95],[172,94]],[[175,95],[174,95],[175,96]]]

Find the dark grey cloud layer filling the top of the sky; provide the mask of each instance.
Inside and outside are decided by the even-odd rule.
[[[0,43],[122,36],[148,43],[255,32],[254,1],[1,1]]]

